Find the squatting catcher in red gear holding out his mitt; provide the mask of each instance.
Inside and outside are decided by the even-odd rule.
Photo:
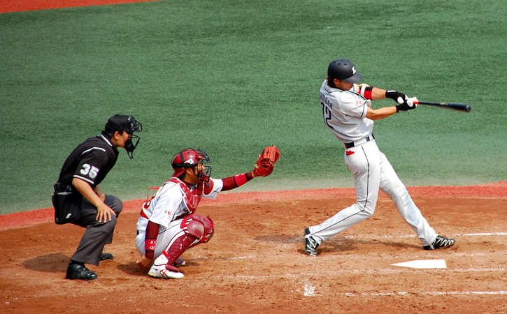
[[[202,197],[215,199],[221,191],[232,190],[255,177],[273,172],[280,150],[266,147],[251,172],[225,179],[210,178],[211,160],[200,148],[185,149],[173,157],[174,173],[157,193],[146,200],[137,222],[136,247],[141,258],[136,264],[149,269],[156,278],[183,278],[178,269],[186,250],[213,237],[213,220],[194,214]]]

